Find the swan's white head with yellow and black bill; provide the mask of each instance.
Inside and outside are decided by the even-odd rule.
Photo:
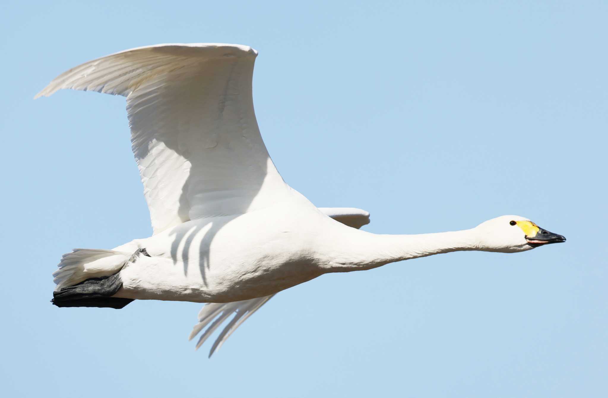
[[[519,215],[492,218],[476,226],[475,232],[482,250],[502,253],[526,251],[566,241],[564,236],[542,229]]]

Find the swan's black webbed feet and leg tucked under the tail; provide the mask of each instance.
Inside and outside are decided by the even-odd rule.
[[[136,262],[137,257],[150,257],[145,248],[138,249],[129,259],[129,263]],[[117,298],[114,296],[122,287],[120,271],[110,276],[99,278],[89,278],[73,286],[61,288],[53,292],[51,302],[57,307],[100,307],[121,309],[129,304],[133,299]]]

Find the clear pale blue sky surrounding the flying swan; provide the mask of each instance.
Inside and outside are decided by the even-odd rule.
[[[0,385],[7,397],[605,397],[605,1],[3,1]],[[58,309],[76,247],[150,236],[123,97],[61,91],[84,61],[248,44],[283,178],[364,229],[518,214],[568,242],[322,276],[207,359],[201,304]],[[238,242],[235,242],[237,245]]]

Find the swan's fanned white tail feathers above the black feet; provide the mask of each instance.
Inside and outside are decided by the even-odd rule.
[[[53,273],[55,291],[72,286],[85,279],[109,276],[120,271],[128,262],[131,253],[105,249],[74,249],[61,257]]]

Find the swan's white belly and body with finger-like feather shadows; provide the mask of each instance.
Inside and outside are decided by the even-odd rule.
[[[309,281],[323,271],[311,254],[307,219],[269,219],[263,212],[215,217],[141,240],[151,257],[140,256],[120,271],[123,288],[116,296],[232,302]]]

